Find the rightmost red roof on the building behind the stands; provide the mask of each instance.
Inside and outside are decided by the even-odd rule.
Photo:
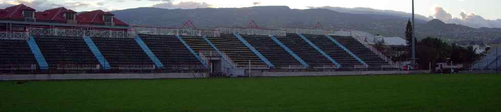
[[[109,12],[104,12],[102,10],[95,10],[90,12],[82,12],[78,14],[77,21],[79,24],[104,24],[103,15],[113,15]],[[113,17],[113,22],[115,25],[127,26],[123,21]]]

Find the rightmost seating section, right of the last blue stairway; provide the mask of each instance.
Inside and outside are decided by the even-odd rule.
[[[339,43],[343,44],[348,50],[365,61],[369,68],[381,68],[381,66],[389,66],[390,64],[384,61],[381,57],[374,52],[363,46],[362,43],[357,41],[351,36],[332,36]]]

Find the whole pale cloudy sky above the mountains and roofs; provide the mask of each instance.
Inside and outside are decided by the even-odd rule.
[[[308,7],[366,7],[379,10],[411,12],[411,0],[0,0],[0,8],[25,4],[43,11],[66,7],[77,12],[90,10],[122,10],[138,7],[166,9],[240,8],[252,6],[289,6],[293,9]],[[417,14],[438,18],[446,23],[471,27],[501,28],[500,0],[416,0]],[[499,19],[499,20],[498,20]],[[480,22],[479,22],[480,21]],[[469,25],[471,24],[471,25]]]

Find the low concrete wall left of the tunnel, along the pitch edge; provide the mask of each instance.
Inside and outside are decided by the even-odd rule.
[[[0,80],[75,80],[75,79],[160,79],[160,78],[203,78],[203,73],[166,74],[36,74],[0,75]]]

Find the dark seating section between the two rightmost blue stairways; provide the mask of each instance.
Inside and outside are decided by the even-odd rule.
[[[318,46],[318,48],[324,50],[325,53],[341,64],[343,68],[355,68],[355,66],[363,65],[334,42],[329,40],[325,35],[305,34],[305,37]]]

